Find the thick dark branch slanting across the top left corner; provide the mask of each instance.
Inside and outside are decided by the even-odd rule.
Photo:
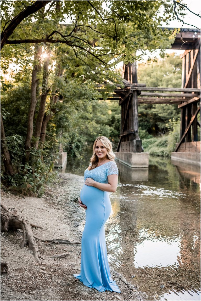
[[[9,25],[5,28],[5,30],[2,31],[1,48],[3,48],[9,36],[11,36],[11,34],[14,32],[14,29],[20,24],[22,20],[24,20],[29,15],[35,13],[49,2],[50,1],[36,1],[33,5],[27,6],[27,8],[25,8],[24,11],[21,11],[17,16],[15,16],[9,23]]]

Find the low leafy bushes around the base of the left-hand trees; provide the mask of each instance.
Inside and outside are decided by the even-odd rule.
[[[11,155],[11,162],[14,169],[14,176],[7,175],[1,168],[2,183],[13,192],[35,195],[40,197],[46,183],[53,180],[56,172],[53,172],[54,160],[57,158],[52,153],[41,150],[31,151],[31,159],[25,165],[24,158],[24,138],[20,135],[12,135],[6,138]],[[41,160],[43,156],[43,160]]]

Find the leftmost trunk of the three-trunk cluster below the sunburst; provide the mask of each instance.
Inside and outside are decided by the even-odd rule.
[[[34,56],[34,61],[36,61],[36,64],[33,67],[32,71],[32,79],[31,79],[31,102],[30,102],[30,108],[29,108],[29,115],[28,115],[28,125],[27,125],[27,138],[25,142],[25,162],[29,161],[30,156],[30,148],[31,148],[31,139],[33,135],[33,117],[36,109],[36,88],[37,88],[37,82],[39,79],[37,79],[37,73],[41,70],[40,62],[38,61],[40,59],[40,55],[42,53],[42,47],[35,45],[36,52]],[[38,61],[38,62],[37,62]]]

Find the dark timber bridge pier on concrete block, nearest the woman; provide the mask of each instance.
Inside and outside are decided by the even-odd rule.
[[[122,77],[137,87],[137,67],[124,64]],[[148,167],[149,155],[143,153],[142,141],[138,134],[138,100],[139,90],[125,88],[121,96],[121,134],[116,152],[116,159],[130,167]]]

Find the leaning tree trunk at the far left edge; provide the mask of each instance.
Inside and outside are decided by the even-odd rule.
[[[11,157],[10,157],[10,153],[8,151],[8,146],[5,140],[5,132],[4,132],[4,124],[3,124],[3,117],[1,114],[1,150],[2,150],[2,154],[3,154],[3,163],[5,166],[5,172],[8,175],[14,175],[14,171],[13,171],[13,166],[12,166],[12,162],[11,162]]]

